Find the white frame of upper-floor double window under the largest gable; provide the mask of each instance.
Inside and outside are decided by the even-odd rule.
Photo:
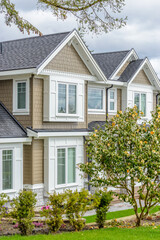
[[[59,113],[58,112],[58,85],[59,84],[64,84],[66,85],[66,113]],[[72,114],[69,113],[69,107],[68,107],[68,103],[69,103],[69,85],[74,85],[76,86],[76,113]],[[76,83],[72,83],[72,82],[57,82],[57,96],[56,96],[56,116],[58,117],[79,117],[78,115],[78,84]]]

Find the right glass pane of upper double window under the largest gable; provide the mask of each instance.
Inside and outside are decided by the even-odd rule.
[[[69,85],[69,113],[76,113],[76,86]]]

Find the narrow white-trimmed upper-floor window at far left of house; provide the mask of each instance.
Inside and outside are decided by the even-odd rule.
[[[29,79],[13,80],[13,113],[29,114]]]

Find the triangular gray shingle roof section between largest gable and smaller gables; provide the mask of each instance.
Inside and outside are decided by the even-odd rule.
[[[113,74],[119,64],[123,61],[126,55],[130,52],[127,51],[119,51],[119,52],[108,52],[108,53],[96,53],[92,54],[101,70],[105,74],[107,78]]]

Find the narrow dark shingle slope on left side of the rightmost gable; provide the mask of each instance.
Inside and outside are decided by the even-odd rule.
[[[133,77],[133,75],[136,73],[136,71],[139,69],[139,67],[143,61],[144,61],[144,59],[138,59],[138,60],[134,60],[134,61],[130,62],[128,64],[128,66],[126,67],[126,69],[124,70],[124,72],[121,74],[118,81],[128,82]]]

